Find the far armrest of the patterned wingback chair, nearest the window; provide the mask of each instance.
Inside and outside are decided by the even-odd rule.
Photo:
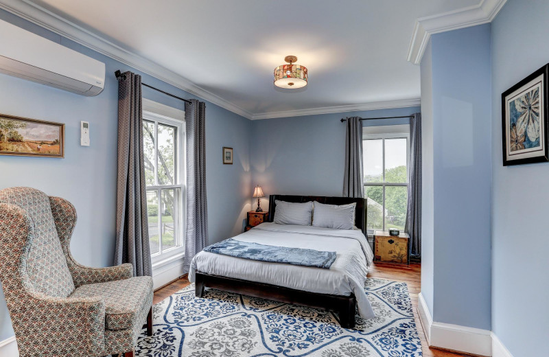
[[[73,275],[74,285],[77,288],[78,286],[87,284],[106,283],[107,281],[133,277],[133,266],[130,263],[110,266],[108,268],[90,268],[89,266],[80,265],[73,260],[69,264],[69,268]]]

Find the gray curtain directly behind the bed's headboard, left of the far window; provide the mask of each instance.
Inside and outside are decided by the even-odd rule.
[[[348,117],[346,125],[343,197],[364,197],[362,122],[360,117]]]

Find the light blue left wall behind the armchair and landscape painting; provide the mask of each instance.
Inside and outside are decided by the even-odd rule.
[[[17,16],[0,10],[0,19],[80,51],[106,63],[104,91],[83,97],[19,78],[0,74],[0,113],[19,115],[66,126],[65,159],[0,157],[0,189],[31,186],[71,201],[78,211],[71,242],[75,258],[90,266],[113,264],[117,172],[117,81],[114,71],[132,70],[97,52],[62,38]],[[194,97],[156,78],[139,73],[143,82],[175,95]],[[171,97],[143,89],[146,97],[183,109]],[[209,237],[212,242],[242,231],[250,209],[250,120],[207,102],[206,161]],[[91,146],[80,146],[80,120],[90,123]],[[234,165],[222,164],[222,146],[234,148]],[[13,335],[0,289],[0,341]]]

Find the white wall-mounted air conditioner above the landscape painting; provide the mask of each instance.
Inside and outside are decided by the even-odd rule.
[[[105,64],[0,20],[0,72],[97,95],[105,84]]]

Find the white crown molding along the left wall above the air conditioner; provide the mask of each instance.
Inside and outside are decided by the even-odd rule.
[[[165,69],[150,60],[128,51],[127,49],[124,49],[119,45],[98,36],[97,34],[93,34],[83,27],[80,27],[67,19],[63,19],[61,16],[58,16],[57,14],[42,8],[35,3],[32,3],[32,1],[0,0],[0,8],[11,12],[12,14],[16,14],[17,16],[35,23],[36,25],[44,27],[47,30],[55,32],[56,34],[69,38],[75,43],[89,47],[100,54],[104,54],[105,56],[122,62],[125,65],[142,71],[143,73],[147,73],[150,76],[162,80],[163,82],[172,84],[172,86],[183,89],[183,91],[194,94],[203,100],[207,100],[213,104],[221,106],[228,111],[242,115],[248,119],[252,116],[252,113],[240,108],[240,106],[236,106],[235,104],[224,100],[222,97],[198,87],[196,84],[187,80],[183,76],[180,76],[169,69]]]

